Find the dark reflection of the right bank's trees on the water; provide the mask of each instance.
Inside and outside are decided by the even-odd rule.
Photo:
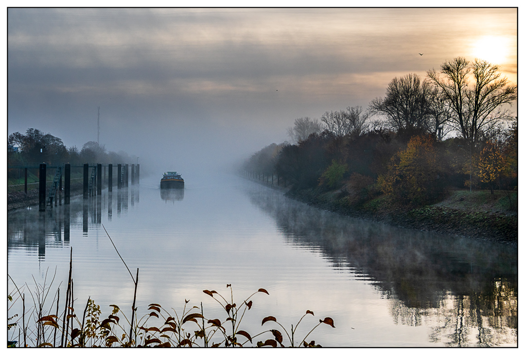
[[[517,342],[516,247],[345,218],[265,188],[249,196],[289,243],[391,299],[395,324],[425,323],[430,341],[447,346]]]

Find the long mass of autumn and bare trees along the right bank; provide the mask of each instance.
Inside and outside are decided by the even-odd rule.
[[[278,174],[295,189],[341,189],[353,202],[385,194],[424,205],[449,188],[517,189],[518,123],[506,108],[517,85],[482,60],[440,69],[394,78],[366,112],[296,119],[292,143],[261,149],[244,169]]]

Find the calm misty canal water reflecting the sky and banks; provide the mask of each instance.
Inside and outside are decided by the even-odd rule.
[[[102,317],[110,304],[131,314],[133,282],[106,228],[130,270],[139,268],[139,317],[149,304],[182,312],[190,300],[224,319],[203,290],[229,297],[231,284],[238,304],[269,293],[251,298],[241,326],[251,335],[279,329],[261,327],[264,317],[289,328],[311,310],[296,338],[331,317],[335,328],[321,324],[308,337],[323,347],[517,346],[514,246],[338,216],[233,175],[186,179],[172,193],[159,179],[45,213],[10,211],[8,274],[26,302],[55,270],[50,293],[60,287],[63,297],[72,248],[75,304],[91,297]]]

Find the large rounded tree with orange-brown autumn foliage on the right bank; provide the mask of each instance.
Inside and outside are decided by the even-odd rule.
[[[377,179],[380,189],[400,202],[431,203],[445,193],[445,177],[431,135],[414,136],[392,157],[387,173]]]

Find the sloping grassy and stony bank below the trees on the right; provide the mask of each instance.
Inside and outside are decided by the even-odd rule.
[[[439,203],[419,208],[395,205],[385,196],[351,203],[341,191],[292,189],[286,196],[313,207],[396,227],[517,245],[517,192],[510,199],[504,191],[495,194],[496,198],[489,191],[456,190]]]

